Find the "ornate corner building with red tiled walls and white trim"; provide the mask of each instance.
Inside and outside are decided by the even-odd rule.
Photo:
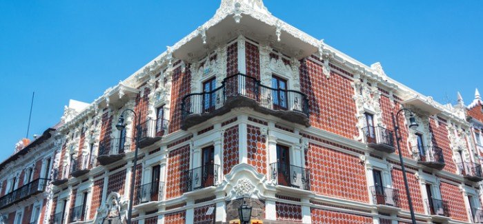
[[[437,103],[262,0],[221,0],[135,74],[66,108],[44,222],[122,222],[134,181],[139,224],[228,223],[242,203],[263,223],[411,223],[393,114],[418,223],[482,221],[481,120],[462,99]]]

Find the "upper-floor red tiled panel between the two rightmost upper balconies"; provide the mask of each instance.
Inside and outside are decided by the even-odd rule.
[[[437,125],[437,121],[435,121],[435,119],[429,118],[429,131],[433,133],[433,145],[437,145],[443,150],[444,163],[446,164],[444,165],[443,170],[457,173],[446,124],[440,122],[440,125]]]

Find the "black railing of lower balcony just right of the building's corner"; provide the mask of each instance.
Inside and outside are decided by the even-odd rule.
[[[304,167],[272,163],[270,164],[270,173],[271,179],[275,180],[277,185],[311,190],[311,172]]]

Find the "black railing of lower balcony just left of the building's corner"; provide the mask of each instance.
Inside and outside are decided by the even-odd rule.
[[[191,192],[218,184],[219,165],[206,164],[186,171],[187,182],[184,192]]]

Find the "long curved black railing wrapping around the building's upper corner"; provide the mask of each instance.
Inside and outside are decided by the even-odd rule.
[[[260,81],[245,74],[226,77],[219,88],[210,92],[193,93],[184,96],[181,114],[209,114],[223,108],[237,96],[253,99],[257,104],[269,110],[301,112],[309,116],[306,94],[295,90],[282,90],[262,85]]]

